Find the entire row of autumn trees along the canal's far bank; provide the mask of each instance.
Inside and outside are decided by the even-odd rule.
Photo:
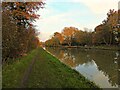
[[[120,25],[118,11],[109,10],[107,18],[95,27],[94,31],[87,28],[79,30],[65,27],[61,33],[54,35],[45,42],[46,46],[84,46],[84,45],[120,45]]]

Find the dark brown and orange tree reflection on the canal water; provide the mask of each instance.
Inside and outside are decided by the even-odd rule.
[[[47,48],[47,50],[71,67],[76,67],[79,64],[89,63],[94,60],[98,69],[102,71],[105,76],[108,76],[111,85],[118,85],[118,61],[120,56],[116,56],[115,51],[77,48]],[[117,53],[119,54],[119,52]],[[117,61],[117,63],[115,63],[115,61]]]

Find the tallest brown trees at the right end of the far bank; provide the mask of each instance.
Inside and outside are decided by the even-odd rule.
[[[119,29],[114,28],[118,24],[118,11],[110,10],[107,19],[95,28],[96,43],[113,45],[119,42]]]

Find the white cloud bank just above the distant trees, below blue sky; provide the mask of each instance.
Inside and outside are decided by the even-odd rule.
[[[45,13],[47,14],[48,12],[46,11]],[[53,11],[51,10],[51,12]],[[78,16],[78,18],[75,16]],[[41,32],[40,39],[42,41],[45,41],[49,39],[54,32],[61,32],[64,27],[73,26],[80,30],[83,30],[84,27],[89,27],[90,29],[93,29],[96,25],[96,22],[93,21],[86,24],[82,22],[82,19],[77,20],[83,16],[84,15],[81,12],[79,12],[79,10],[74,10],[70,12],[64,12],[61,14],[52,15],[49,17],[42,17],[40,20],[36,22],[38,26],[37,28]]]

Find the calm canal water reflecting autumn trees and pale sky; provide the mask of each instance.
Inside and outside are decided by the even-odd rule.
[[[118,51],[79,48],[46,48],[101,88],[118,87]]]

